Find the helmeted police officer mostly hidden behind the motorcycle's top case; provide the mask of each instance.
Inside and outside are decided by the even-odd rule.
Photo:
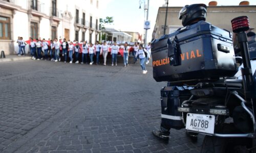
[[[179,19],[182,19],[182,25],[185,27],[187,25],[191,25],[194,23],[197,23],[200,20],[205,20],[206,17],[206,5],[204,4],[193,4],[193,5],[186,5],[180,10],[179,13]],[[172,85],[168,85],[172,86]],[[172,116],[170,116],[172,117]],[[161,140],[168,141],[169,134],[170,134],[170,125],[168,122],[166,122],[168,118],[162,118],[161,120],[161,126],[160,130],[156,131],[153,130],[152,134]],[[190,138],[193,138],[193,140],[197,140],[197,134],[196,133],[187,133]]]

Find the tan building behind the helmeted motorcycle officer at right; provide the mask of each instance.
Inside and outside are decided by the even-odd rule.
[[[207,6],[207,22],[232,32],[231,20],[235,17],[246,15],[249,17],[251,30],[255,32],[254,28],[256,28],[256,6],[218,6],[216,2],[214,3],[215,5],[211,4],[212,2],[210,2],[209,6]],[[181,9],[182,7],[168,7],[165,34],[173,33],[177,29],[183,27],[181,23],[182,20],[179,20],[179,12]],[[165,14],[166,7],[160,7],[158,9],[152,39],[160,38],[163,35]]]

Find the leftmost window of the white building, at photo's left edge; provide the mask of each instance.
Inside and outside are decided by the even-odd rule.
[[[0,39],[10,40],[10,18],[5,16],[0,16]]]

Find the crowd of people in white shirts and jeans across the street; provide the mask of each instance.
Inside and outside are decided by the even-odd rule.
[[[27,43],[26,43],[27,42]],[[31,59],[33,60],[49,60],[59,62],[73,63],[73,61],[78,64],[99,64],[100,55],[103,57],[103,65],[106,65],[107,56],[111,55],[111,65],[117,65],[117,56],[121,54],[123,56],[124,67],[129,65],[129,56],[133,55],[134,64],[138,61],[142,68],[142,73],[147,73],[145,64],[148,64],[151,59],[151,43],[148,43],[145,48],[143,44],[135,42],[134,45],[130,45],[127,42],[124,44],[118,44],[114,42],[110,43],[99,43],[96,41],[95,44],[83,41],[78,43],[74,40],[67,41],[65,38],[58,40],[48,39],[33,39],[30,38],[29,41],[24,41],[22,37],[18,37],[18,56],[25,55],[25,46],[28,44],[30,48]],[[43,53],[43,54],[41,54]],[[79,56],[81,55],[81,56]],[[96,56],[96,61],[94,61],[94,56]],[[74,59],[73,59],[74,58]]]

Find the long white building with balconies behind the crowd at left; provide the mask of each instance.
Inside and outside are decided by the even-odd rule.
[[[0,50],[16,54],[18,36],[94,43],[98,6],[98,0],[0,0]]]

